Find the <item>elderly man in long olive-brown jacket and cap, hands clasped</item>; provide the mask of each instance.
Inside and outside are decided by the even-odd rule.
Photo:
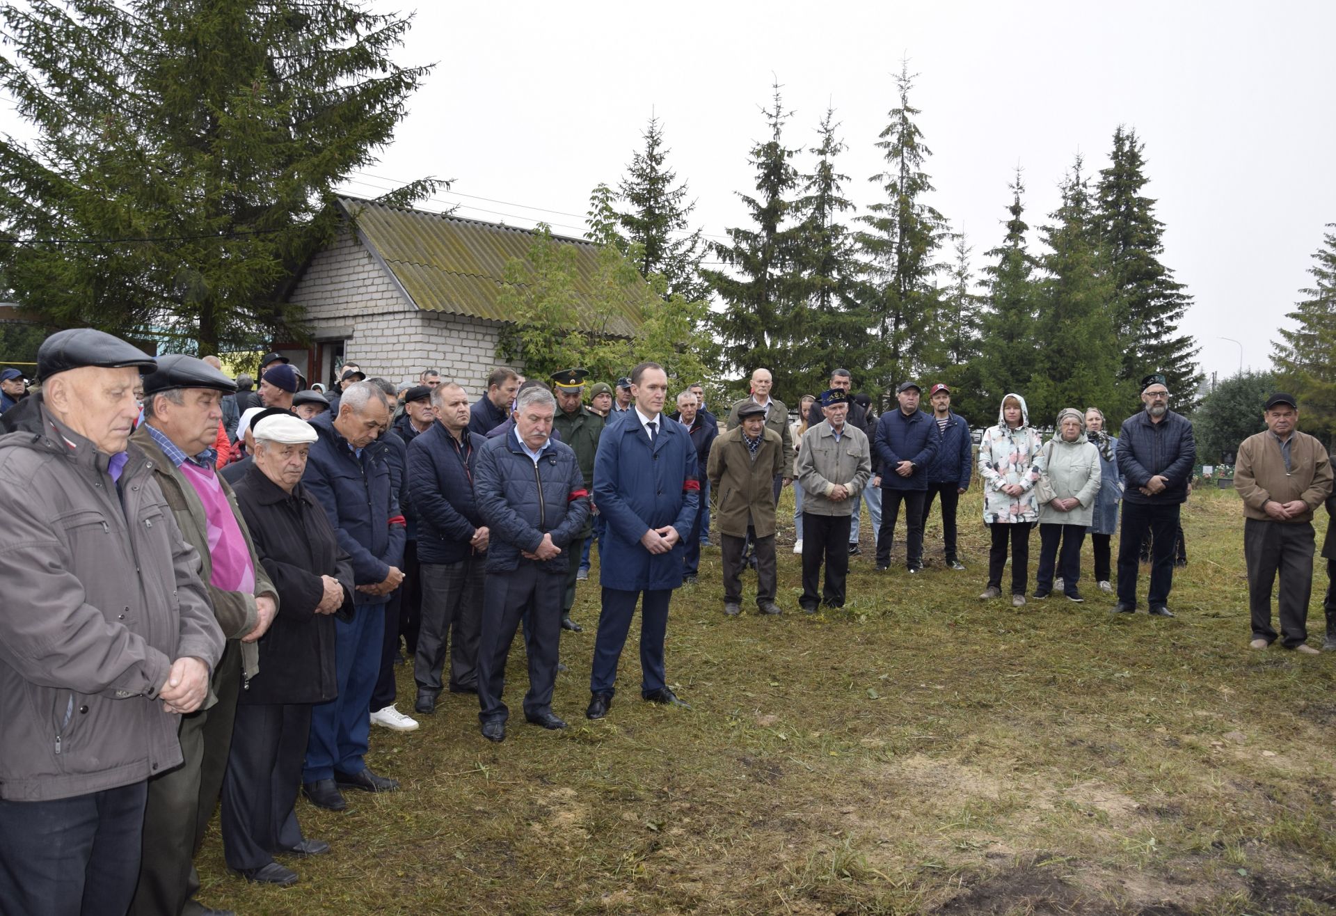
[[[775,603],[775,500],[772,481],[786,473],[790,451],[774,429],[766,428],[766,408],[744,403],[737,409],[741,425],[715,440],[709,449],[709,492],[716,504],[715,526],[723,538],[724,614],[741,612],[743,554],[748,535],[756,558],[756,608],[779,614]]]

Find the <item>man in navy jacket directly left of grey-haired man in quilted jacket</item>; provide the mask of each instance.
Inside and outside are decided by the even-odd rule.
[[[478,451],[469,432],[469,396],[449,382],[432,389],[436,423],[409,444],[409,488],[418,512],[422,623],[418,630],[413,709],[430,715],[450,654],[450,693],[478,690],[484,564],[490,530],[473,497]]]

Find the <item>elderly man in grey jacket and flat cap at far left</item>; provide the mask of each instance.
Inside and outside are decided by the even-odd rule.
[[[130,441],[154,368],[111,334],[63,330],[37,350],[41,392],[0,417],[5,912],[126,912],[148,780],[182,764],[180,715],[223,655],[200,554]]]

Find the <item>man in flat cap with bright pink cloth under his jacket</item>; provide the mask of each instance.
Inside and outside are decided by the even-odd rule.
[[[255,677],[259,650],[278,611],[278,592],[255,558],[232,489],[214,471],[214,432],[222,397],[235,390],[218,369],[192,356],[164,356],[144,376],[144,423],[130,437],[154,467],[182,536],[199,551],[200,578],[227,637],[210,689],[216,702],[182,717],[186,762],[148,782],[144,856],[131,913],[180,913],[199,879],[191,857],[214,816],[227,769],[236,697]]]

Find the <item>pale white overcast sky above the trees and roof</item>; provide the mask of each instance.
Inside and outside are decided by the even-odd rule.
[[[754,190],[747,151],[778,78],[795,112],[790,146],[812,146],[836,108],[839,164],[862,211],[878,199],[872,144],[907,58],[933,203],[967,233],[975,269],[1002,237],[1017,164],[1038,226],[1077,152],[1094,174],[1114,128],[1137,131],[1164,262],[1196,301],[1182,328],[1202,369],[1224,377],[1240,346],[1221,336],[1241,342],[1246,368],[1269,366],[1336,222],[1333,35],[1329,0],[430,3],[399,59],[438,66],[367,170],[373,186],[347,190],[371,197],[386,178],[430,174],[454,185],[426,206],[577,234],[591,189],[619,181],[653,112],[697,225],[721,235],[745,219],[735,191]]]

